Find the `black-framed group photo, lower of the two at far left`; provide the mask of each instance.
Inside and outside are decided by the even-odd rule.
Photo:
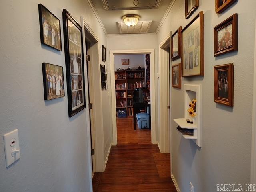
[[[65,96],[63,67],[50,63],[42,63],[44,100],[52,100]]]

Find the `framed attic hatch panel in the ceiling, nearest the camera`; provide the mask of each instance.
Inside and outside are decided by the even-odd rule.
[[[102,0],[107,10],[158,9],[161,0]]]

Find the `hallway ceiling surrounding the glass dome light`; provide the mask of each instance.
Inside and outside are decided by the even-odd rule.
[[[92,0],[92,3],[108,34],[153,33],[164,17],[171,0]],[[121,19],[126,14],[138,14],[141,17],[140,22],[150,22],[150,25],[146,30],[128,28],[126,30],[122,27]]]

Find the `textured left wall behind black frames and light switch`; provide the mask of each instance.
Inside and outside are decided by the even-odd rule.
[[[60,20],[63,51],[41,45],[38,3]],[[65,97],[44,101],[42,62],[64,67],[62,10],[83,16],[106,46],[106,35],[86,0],[1,1],[0,191],[88,192],[85,110],[68,118]],[[99,49],[101,57],[101,47]],[[65,88],[66,75],[64,75]],[[86,104],[88,105],[88,104]],[[106,115],[106,114],[105,114]],[[18,128],[21,158],[6,169],[2,135]]]

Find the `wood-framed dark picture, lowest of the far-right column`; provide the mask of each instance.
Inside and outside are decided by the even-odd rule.
[[[214,102],[233,106],[234,65],[233,63],[214,66]]]

